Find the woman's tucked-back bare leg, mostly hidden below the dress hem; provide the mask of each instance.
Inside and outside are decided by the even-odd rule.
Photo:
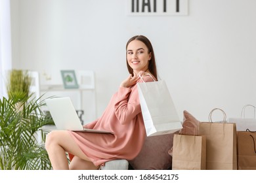
[[[77,156],[74,156],[70,162],[70,170],[97,170],[99,167],[95,167],[93,162],[86,161]]]

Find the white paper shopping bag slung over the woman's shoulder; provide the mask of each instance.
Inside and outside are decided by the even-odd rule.
[[[174,133],[181,121],[164,80],[137,83],[147,136]]]

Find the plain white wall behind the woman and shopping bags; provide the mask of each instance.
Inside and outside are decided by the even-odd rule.
[[[256,1],[190,0],[188,16],[127,16],[126,0],[11,0],[14,67],[59,84],[61,69],[93,70],[97,114],[127,77],[125,44],[146,35],[177,106],[207,121],[256,105]],[[52,76],[47,82],[42,73]]]

